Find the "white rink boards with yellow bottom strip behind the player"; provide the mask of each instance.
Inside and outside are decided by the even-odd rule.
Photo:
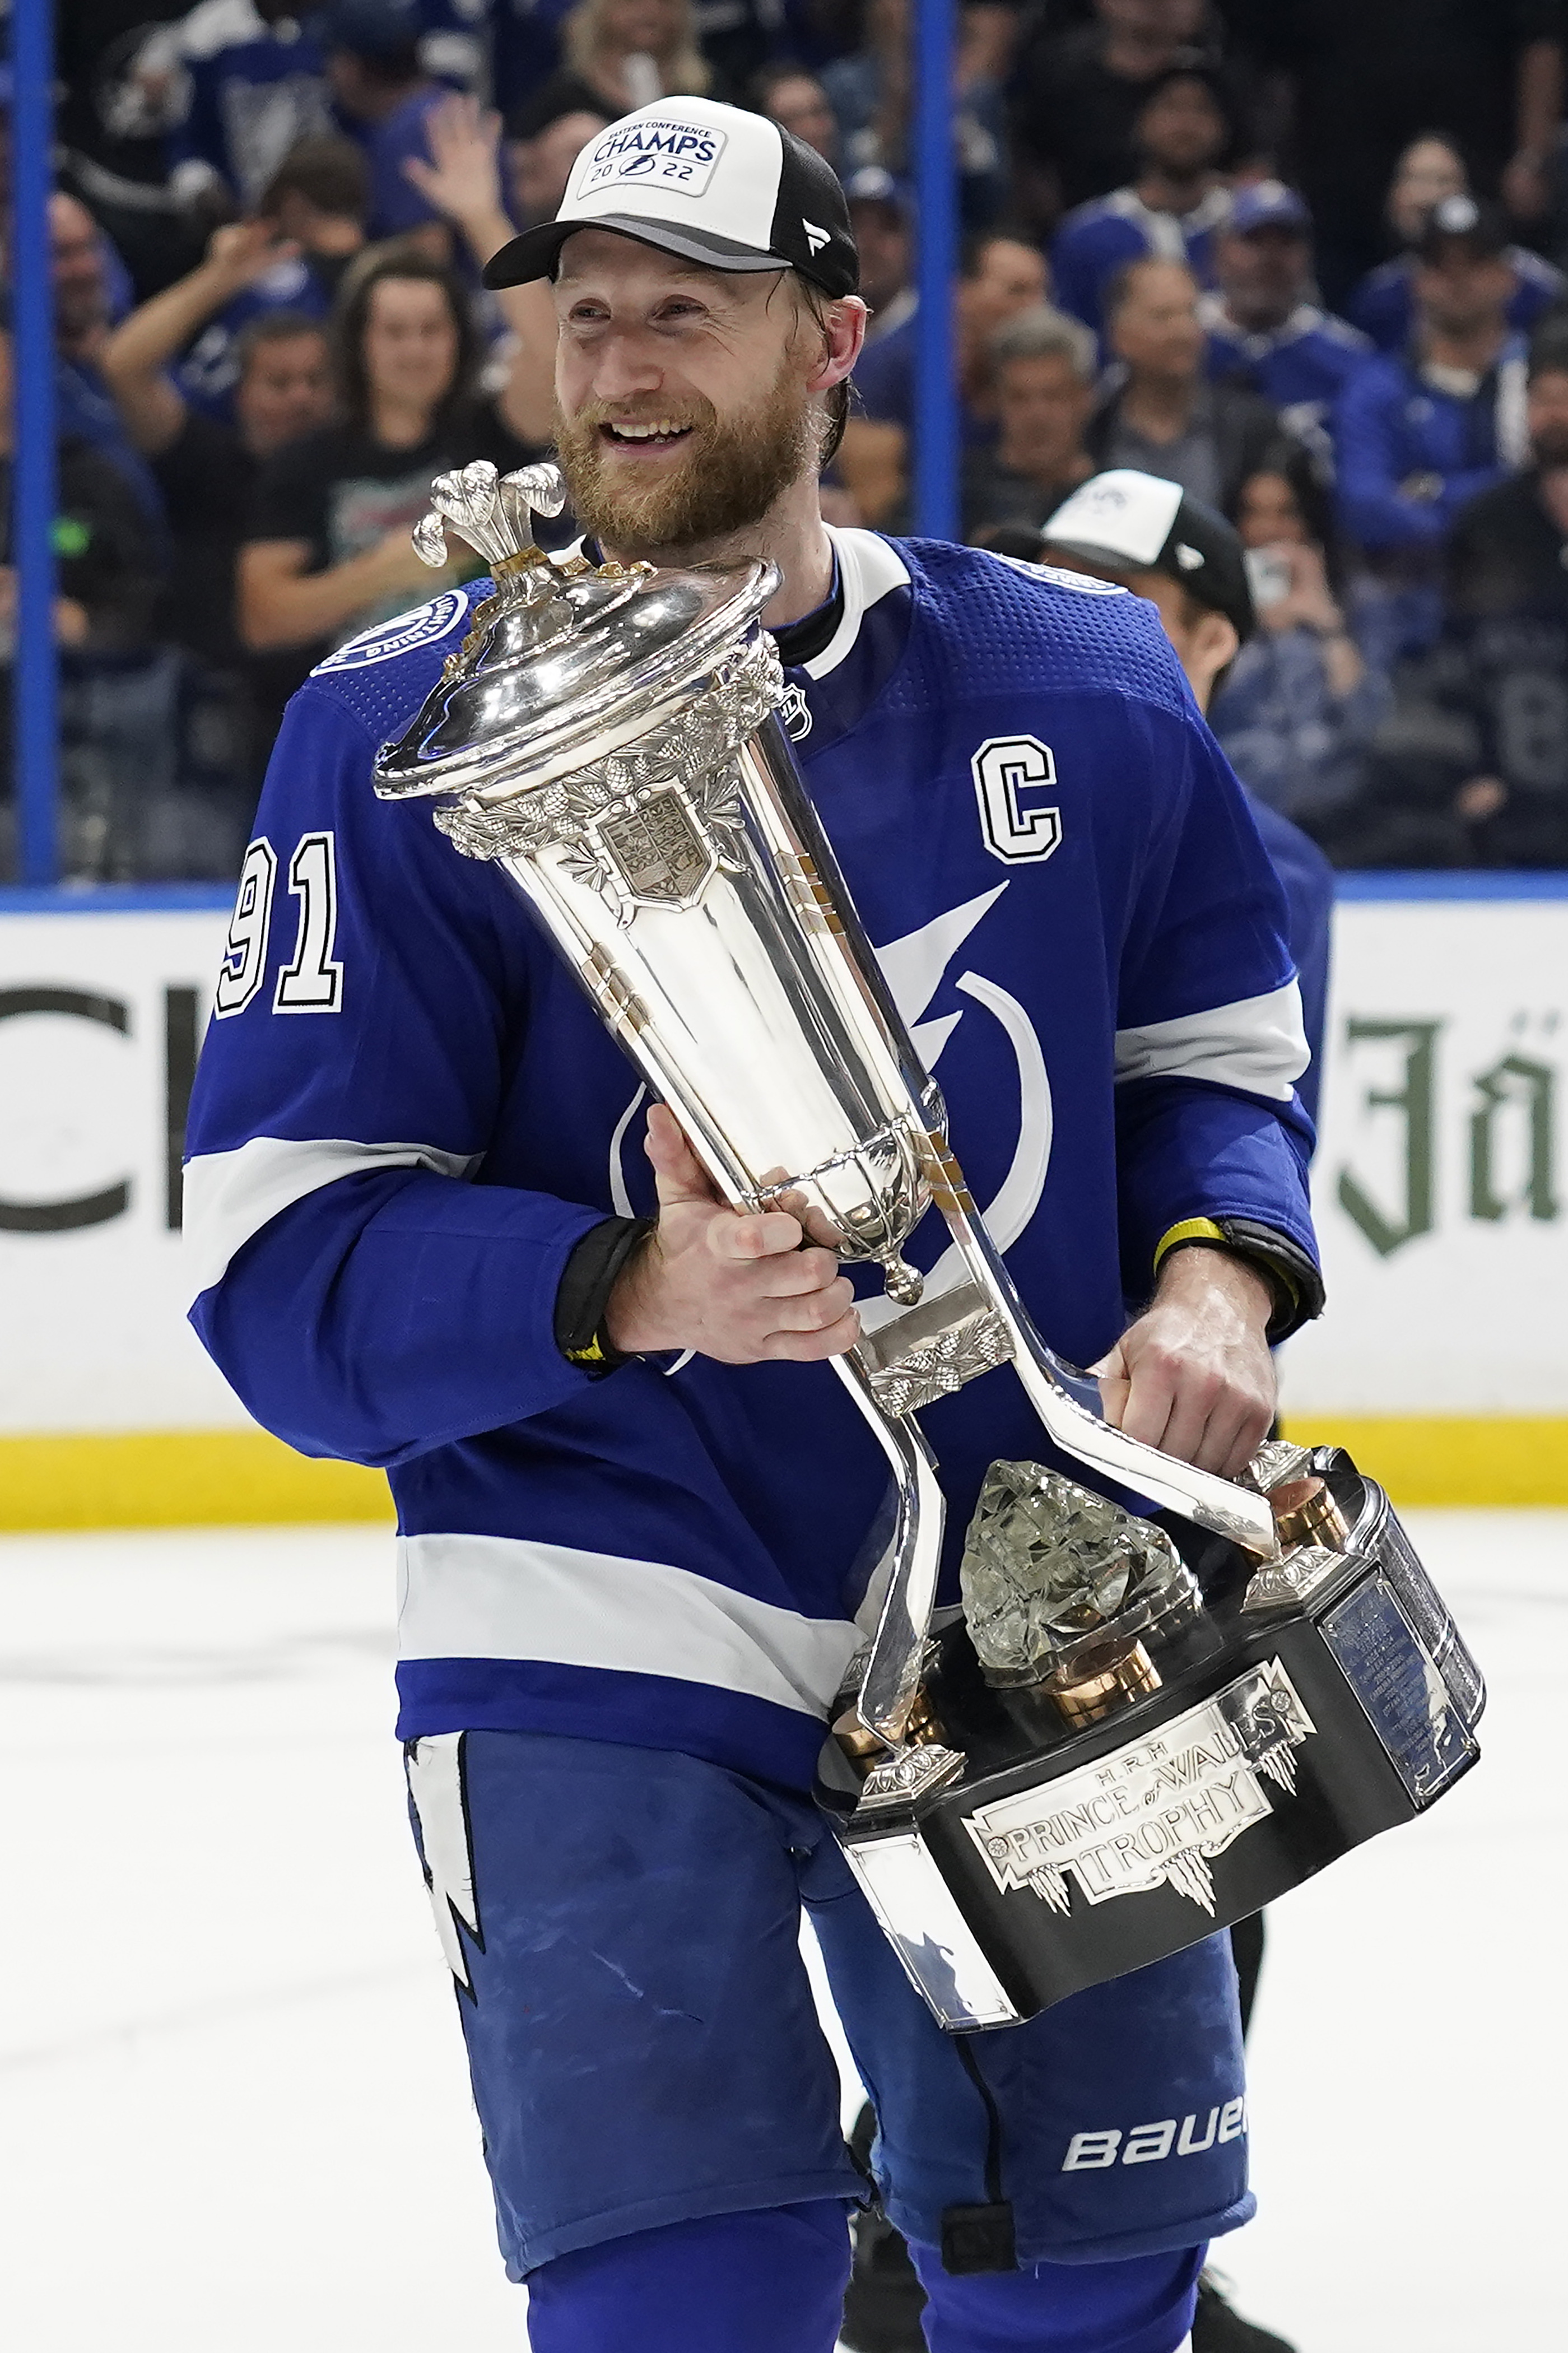
[[[212,892],[0,892],[0,1527],[388,1515],[377,1473],[257,1431],[184,1320],[179,1146],[224,934]],[[1401,1501],[1568,1504],[1566,1014],[1568,875],[1347,878],[1330,1313],[1283,1400]]]

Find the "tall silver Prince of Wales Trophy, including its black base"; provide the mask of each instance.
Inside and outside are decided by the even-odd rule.
[[[876,1261],[899,1313],[833,1360],[895,1480],[876,1633],[817,1798],[951,2031],[1008,2026],[1241,1920],[1474,1765],[1476,1666],[1382,1489],[1271,1440],[1243,1482],[1123,1435],[1043,1344],[986,1235],[942,1094],[892,1005],[777,720],[772,565],[544,555],[553,466],[433,485],[494,593],[400,741],[494,859],[737,1209],[782,1193]],[[963,1280],[902,1249],[935,1207]],[[815,1221],[819,1228],[819,1221]],[[944,1501],[918,1412],[1012,1365],[1057,1449],[1144,1508],[991,1466],[963,1605],[935,1609]]]

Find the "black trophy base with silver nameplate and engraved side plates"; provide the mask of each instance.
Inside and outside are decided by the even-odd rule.
[[[862,1781],[829,1739],[817,1800],[944,2028],[1010,2026],[1180,1953],[1476,1762],[1481,1675],[1387,1497],[1337,1447],[1311,1471],[1349,1529],[1340,1548],[1257,1569],[1156,1515],[1203,1609],[1107,1713],[1064,1715],[1048,1682],[994,1687],[946,1609],[928,1746]]]

